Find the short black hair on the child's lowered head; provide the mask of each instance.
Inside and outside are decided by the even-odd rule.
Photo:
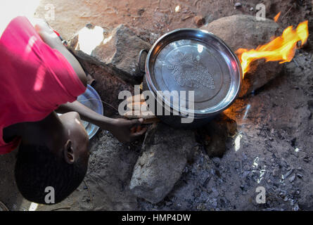
[[[87,165],[84,165],[87,164]],[[24,198],[33,203],[50,205],[47,187],[54,188],[54,203],[68,197],[84,180],[88,163],[72,165],[52,153],[46,146],[20,145],[15,163],[15,181]]]

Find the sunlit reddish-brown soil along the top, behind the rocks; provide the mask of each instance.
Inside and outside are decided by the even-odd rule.
[[[36,15],[44,18],[45,6],[53,4],[55,20],[49,20],[49,24],[58,30],[65,39],[70,39],[75,32],[88,23],[109,29],[124,24],[131,27],[139,37],[153,44],[160,34],[170,30],[181,27],[197,27],[195,21],[197,16],[205,18],[206,24],[228,15],[255,15],[255,6],[264,4],[266,17],[272,19],[281,11],[281,18],[278,22],[286,27],[287,25],[298,25],[308,16],[308,11],[312,11],[312,8],[309,8],[309,1],[250,0],[241,2],[242,6],[235,8],[236,2],[239,1],[77,0],[73,2],[42,0]],[[176,12],[177,6],[179,6],[179,10]],[[253,10],[251,10],[252,8]]]

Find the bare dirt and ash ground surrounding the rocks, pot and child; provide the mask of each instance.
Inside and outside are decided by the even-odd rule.
[[[236,2],[242,6],[234,8]],[[53,4],[55,20],[49,23],[65,39],[87,23],[108,28],[124,23],[152,44],[169,30],[196,27],[196,15],[206,23],[226,15],[255,15],[260,3],[267,6],[267,18],[281,11],[282,27],[309,20],[313,33],[310,1],[42,0],[36,15],[43,18],[44,6]],[[101,131],[91,141],[84,183],[63,203],[37,210],[313,210],[312,49],[311,44],[298,51],[279,77],[226,110],[238,124],[238,133],[227,139],[226,153],[209,158],[199,144],[193,162],[161,203],[153,205],[125,191],[141,142],[123,146]],[[101,156],[101,150],[111,148],[117,149],[111,158]],[[0,156],[0,200],[10,210],[30,210],[13,179],[14,160],[14,152]],[[116,189],[113,176],[120,184]],[[266,190],[266,204],[255,201],[258,186]],[[108,196],[112,193],[115,200]]]

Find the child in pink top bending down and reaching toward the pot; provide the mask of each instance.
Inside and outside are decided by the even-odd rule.
[[[83,181],[89,138],[80,118],[121,142],[146,131],[131,131],[142,119],[104,117],[76,101],[86,90],[84,70],[43,20],[2,23],[0,79],[0,154],[18,148],[16,184],[34,203],[46,204],[49,186],[59,203]]]

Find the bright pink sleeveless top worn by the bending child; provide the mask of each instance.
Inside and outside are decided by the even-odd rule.
[[[85,90],[68,60],[41,40],[27,18],[13,19],[0,37],[0,154],[20,142],[6,143],[5,127],[43,120]]]

